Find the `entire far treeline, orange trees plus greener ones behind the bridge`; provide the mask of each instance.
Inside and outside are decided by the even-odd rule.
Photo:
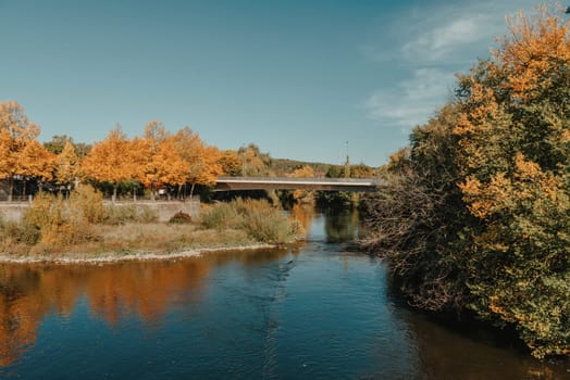
[[[349,166],[347,175],[339,165],[275,160],[253,143],[220,150],[206,144],[188,127],[171,134],[158,121],[149,122],[141,136],[134,138],[117,126],[92,145],[66,136],[54,136],[42,144],[39,130],[20,104],[0,102],[0,181],[8,185],[9,201],[15,185],[18,193],[26,195],[38,187],[69,192],[84,181],[113,197],[135,197],[147,189],[153,199],[159,188],[168,197],[191,195],[197,186],[208,189],[221,175],[287,176],[306,166],[311,168],[310,177],[374,173],[363,164]]]

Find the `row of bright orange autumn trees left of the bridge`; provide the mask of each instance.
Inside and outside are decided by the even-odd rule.
[[[0,103],[0,179],[8,181],[8,199],[14,181],[70,189],[78,180],[99,188],[111,187],[116,195],[120,185],[135,189],[144,186],[151,197],[161,186],[179,191],[189,185],[211,186],[216,176],[240,167],[236,151],[221,151],[207,145],[188,127],[170,134],[158,121],[151,121],[140,137],[132,139],[116,127],[92,147],[74,144],[71,139],[54,138],[42,145],[39,127],[30,123],[16,102]]]

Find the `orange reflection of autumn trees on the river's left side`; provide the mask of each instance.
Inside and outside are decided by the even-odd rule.
[[[285,250],[223,252],[177,262],[86,265],[0,265],[0,366],[16,360],[49,315],[70,317],[86,296],[89,311],[110,327],[137,317],[150,326],[175,304],[197,302],[212,267],[271,263]]]

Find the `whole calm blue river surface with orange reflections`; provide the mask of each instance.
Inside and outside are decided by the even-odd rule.
[[[391,295],[346,249],[356,214],[298,212],[308,241],[170,262],[0,265],[0,378],[569,379]]]

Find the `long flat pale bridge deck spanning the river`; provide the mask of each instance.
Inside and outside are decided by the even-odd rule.
[[[219,177],[214,191],[299,189],[362,192],[382,186],[384,182],[373,178]]]

